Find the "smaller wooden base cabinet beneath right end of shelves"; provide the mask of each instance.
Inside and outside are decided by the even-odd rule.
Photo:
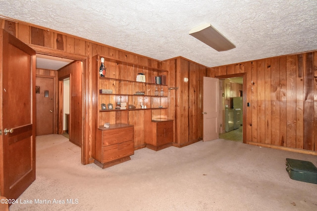
[[[151,127],[146,131],[146,147],[153,150],[161,150],[173,143],[173,121],[157,119],[152,121]]]

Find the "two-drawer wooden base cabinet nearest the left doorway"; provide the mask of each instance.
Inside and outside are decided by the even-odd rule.
[[[113,124],[99,127],[95,144],[95,164],[105,169],[131,160],[134,154],[134,129],[132,125]]]

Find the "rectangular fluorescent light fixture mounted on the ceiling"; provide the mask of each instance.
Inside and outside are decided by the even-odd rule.
[[[235,48],[236,46],[225,38],[211,24],[203,24],[190,30],[189,34],[194,38],[208,44],[217,51],[225,51]]]

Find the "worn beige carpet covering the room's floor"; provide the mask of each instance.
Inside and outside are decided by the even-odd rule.
[[[81,149],[62,135],[36,139],[37,178],[18,199],[33,204],[10,211],[317,210],[317,184],[285,170],[286,158],[317,166],[317,156],[217,139],[139,149],[130,161],[101,169],[81,165]]]

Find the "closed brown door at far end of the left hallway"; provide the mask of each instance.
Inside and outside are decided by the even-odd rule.
[[[54,79],[36,77],[36,135],[53,134]]]

